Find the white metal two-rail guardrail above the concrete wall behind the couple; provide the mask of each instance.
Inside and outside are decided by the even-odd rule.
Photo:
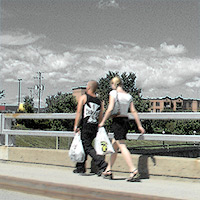
[[[138,113],[141,120],[169,120],[169,119],[192,119],[200,120],[200,112],[188,113]],[[134,119],[129,114],[130,119]],[[5,146],[9,146],[9,136],[11,135],[32,135],[32,136],[56,136],[56,137],[74,137],[73,131],[41,131],[41,130],[11,130],[12,119],[75,119],[75,113],[15,113],[0,115],[0,134],[5,135]],[[113,134],[109,133],[112,138]],[[200,135],[171,135],[146,133],[144,135],[138,133],[127,134],[129,140],[151,140],[151,141],[176,141],[176,142],[200,142]]]

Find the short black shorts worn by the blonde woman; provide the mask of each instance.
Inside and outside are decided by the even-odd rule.
[[[113,118],[112,131],[114,132],[115,140],[125,140],[129,128],[130,125],[128,117]]]

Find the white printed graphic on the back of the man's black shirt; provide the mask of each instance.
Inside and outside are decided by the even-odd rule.
[[[89,117],[87,123],[97,124],[99,113],[100,113],[100,105],[89,102],[84,106],[84,118]]]

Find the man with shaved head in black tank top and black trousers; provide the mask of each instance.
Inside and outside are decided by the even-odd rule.
[[[86,88],[86,93],[82,95],[78,101],[76,118],[74,122],[74,132],[79,134],[79,124],[81,126],[81,140],[85,151],[85,161],[83,163],[77,163],[74,173],[85,173],[85,162],[87,155],[90,155],[98,167],[100,173],[103,172],[107,163],[104,158],[96,154],[92,141],[96,137],[98,131],[98,124],[103,117],[103,105],[99,98],[97,98],[95,92],[98,87],[96,81],[89,81]],[[80,123],[81,122],[81,123]]]

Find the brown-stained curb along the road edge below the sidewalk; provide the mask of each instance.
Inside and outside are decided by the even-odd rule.
[[[175,200],[174,198],[115,192],[1,175],[0,187],[63,200]]]

